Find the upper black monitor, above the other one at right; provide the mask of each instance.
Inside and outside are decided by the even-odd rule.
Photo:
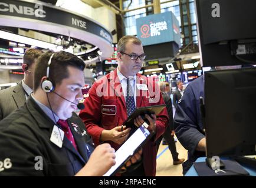
[[[256,1],[196,0],[203,66],[256,62]]]

